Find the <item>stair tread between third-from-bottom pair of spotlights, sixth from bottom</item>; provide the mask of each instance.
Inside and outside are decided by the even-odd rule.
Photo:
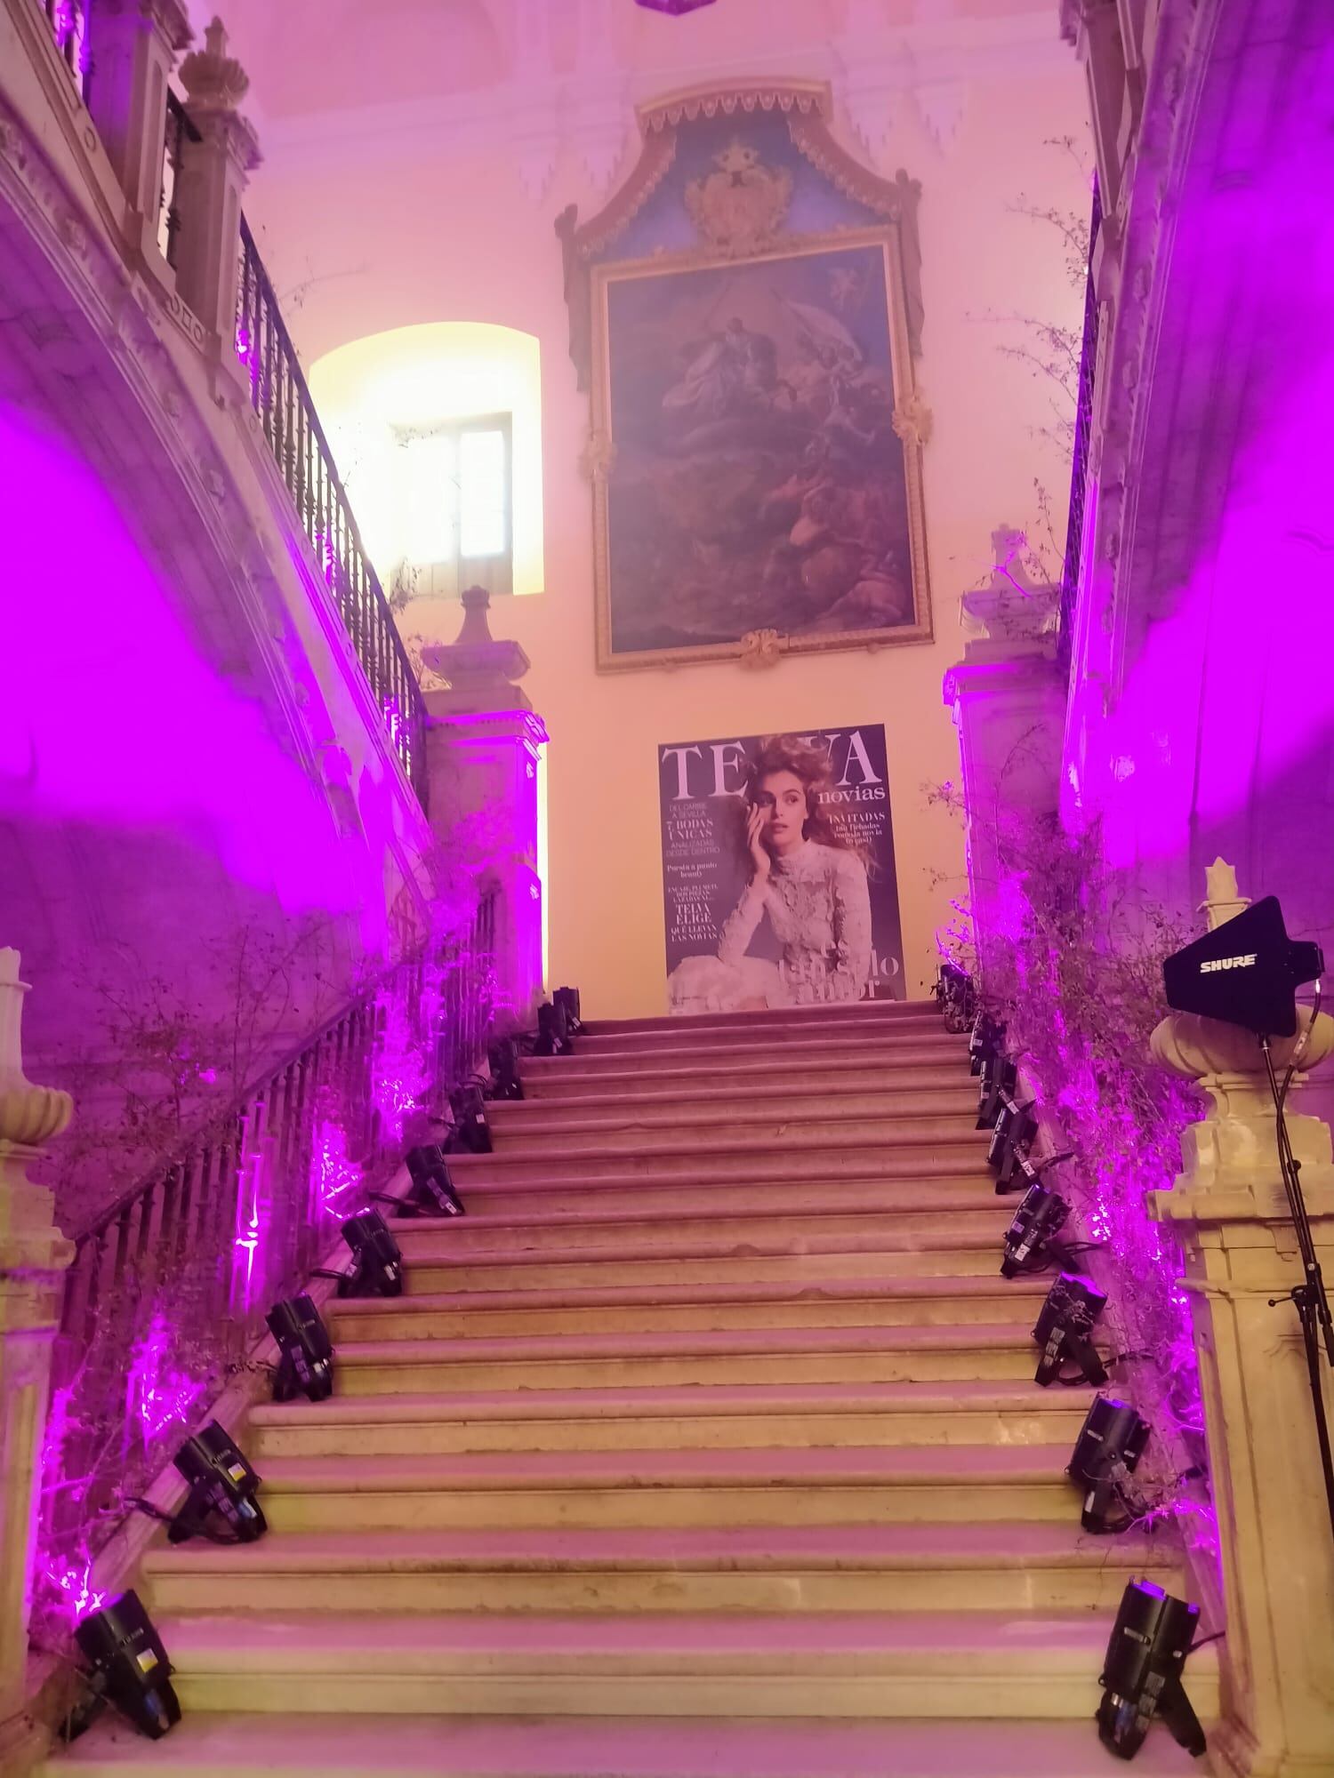
[[[443,1350],[441,1350],[443,1348]],[[457,1346],[439,1339],[343,1341],[338,1346],[340,1369],[414,1362],[432,1367],[486,1362],[578,1364],[591,1358],[783,1358],[802,1353],[877,1351],[994,1351],[1014,1348],[1033,1351],[1028,1328],[1017,1323],[984,1326],[872,1326],[872,1328],[724,1328],[676,1334],[535,1334],[470,1339]]]

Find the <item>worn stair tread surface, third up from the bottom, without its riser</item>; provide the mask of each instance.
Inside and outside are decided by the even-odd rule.
[[[148,1575],[183,1574],[800,1574],[1176,1568],[1167,1543],[1073,1526],[985,1524],[724,1526],[580,1531],[283,1531],[258,1543],[157,1545]]]

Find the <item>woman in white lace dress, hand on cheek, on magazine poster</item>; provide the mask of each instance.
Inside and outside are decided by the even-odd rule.
[[[667,980],[674,1013],[856,1001],[872,973],[866,866],[820,809],[825,756],[792,734],[767,740],[747,777],[751,880],[717,957],[685,957]],[[747,957],[763,916],[779,960]]]

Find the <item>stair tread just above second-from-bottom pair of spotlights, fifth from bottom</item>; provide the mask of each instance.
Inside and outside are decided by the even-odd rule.
[[[261,1403],[251,1426],[320,1426],[434,1421],[575,1419],[594,1426],[615,1417],[679,1419],[681,1415],[802,1417],[868,1414],[1032,1414],[1065,1410],[1081,1417],[1092,1390],[1041,1390],[1032,1382],[950,1378],[927,1383],[719,1383],[713,1389],[671,1383],[655,1389],[521,1389],[452,1394],[333,1396],[329,1401]]]

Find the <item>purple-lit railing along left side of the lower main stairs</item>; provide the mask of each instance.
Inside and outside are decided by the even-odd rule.
[[[482,1065],[494,894],[75,1234],[43,1453],[37,1616],[91,1559],[452,1086]]]

